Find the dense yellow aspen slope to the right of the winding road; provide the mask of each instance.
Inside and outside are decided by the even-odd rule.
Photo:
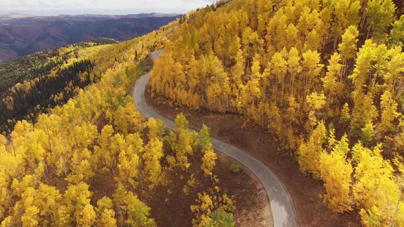
[[[244,116],[335,212],[404,225],[404,15],[392,0],[233,0],[190,12],[149,92]]]

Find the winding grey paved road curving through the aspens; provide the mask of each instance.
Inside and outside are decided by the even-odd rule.
[[[157,59],[163,50],[156,51],[151,54],[153,61]],[[157,114],[149,105],[147,105],[146,100],[144,98],[144,89],[149,81],[150,73],[148,72],[146,75],[140,77],[136,82],[133,97],[135,100],[135,105],[138,108],[138,111],[142,113],[147,118],[155,118],[161,119],[166,124],[168,129],[175,129],[175,122],[164,118]],[[266,189],[266,193],[268,193],[268,198],[270,200],[270,208],[272,211],[272,216],[274,220],[274,226],[298,226],[296,223],[296,212],[294,211],[294,206],[292,202],[292,198],[288,193],[288,189],[279,181],[277,176],[269,170],[266,165],[252,157],[234,146],[226,144],[225,142],[221,142],[218,139],[212,138],[212,145],[214,150],[218,152],[222,152],[226,155],[229,155],[233,159],[240,161],[247,166],[262,182],[264,188]]]

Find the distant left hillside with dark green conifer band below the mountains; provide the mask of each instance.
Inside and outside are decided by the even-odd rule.
[[[99,81],[101,75],[91,75],[90,57],[114,43],[94,39],[0,64],[0,131],[9,131],[17,120],[35,120]]]

